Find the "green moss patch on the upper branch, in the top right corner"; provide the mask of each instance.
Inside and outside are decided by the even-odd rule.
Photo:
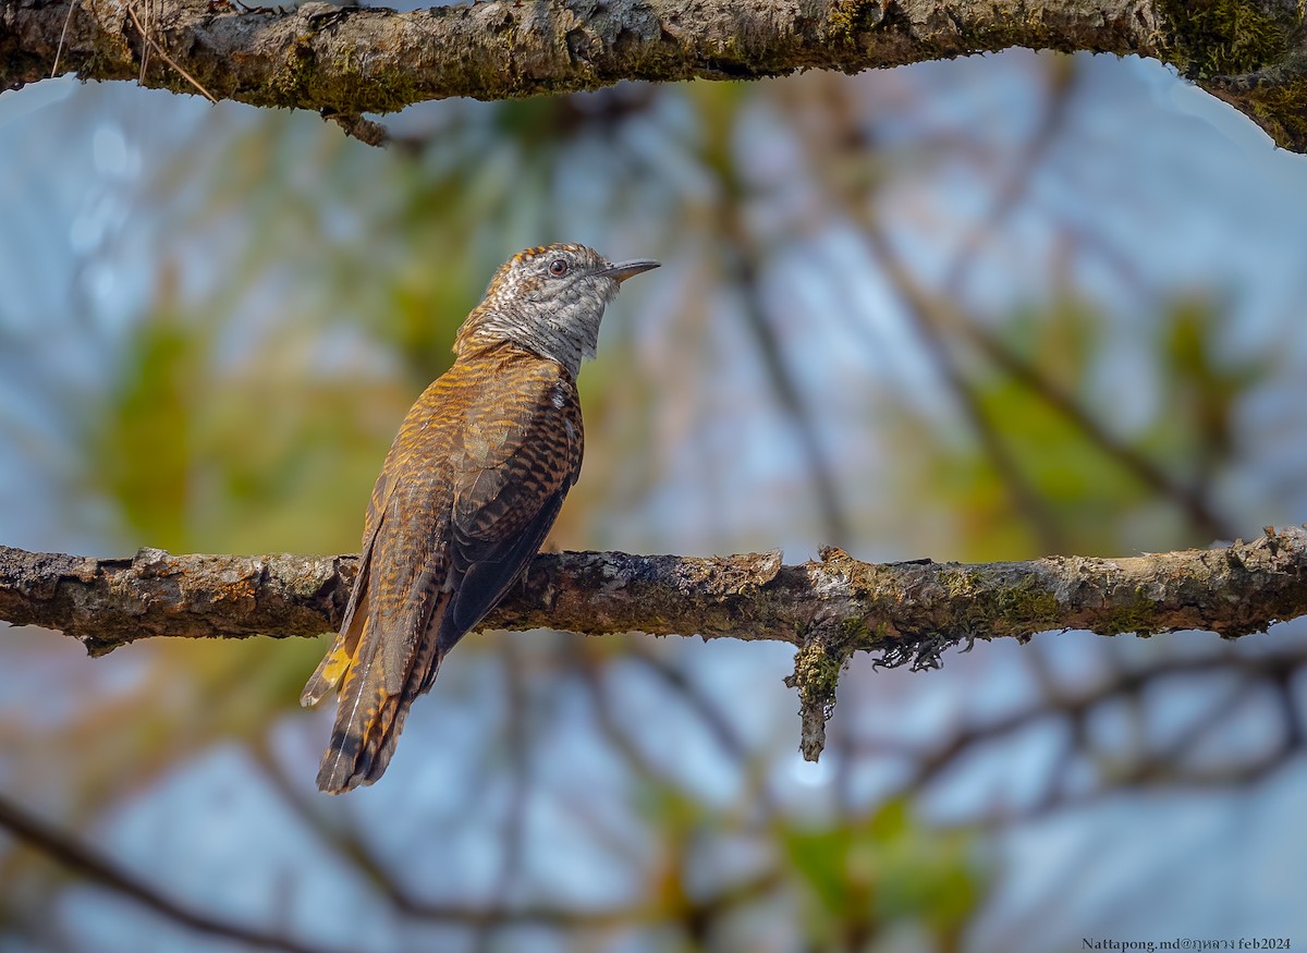
[[[1191,80],[1240,76],[1281,61],[1303,20],[1295,0],[1159,0],[1171,59]]]

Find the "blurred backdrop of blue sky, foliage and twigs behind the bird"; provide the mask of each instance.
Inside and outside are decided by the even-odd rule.
[[[1307,169],[1155,63],[450,101],[376,150],[125,85],[0,97],[0,541],[357,549],[512,251],[664,268],[582,375],[570,549],[1119,556],[1307,512]],[[322,646],[4,633],[0,794],[312,950],[1307,940],[1304,626],[791,648],[485,633],[383,783],[312,790]],[[0,835],[0,950],[235,950]],[[119,888],[122,885],[119,884]]]

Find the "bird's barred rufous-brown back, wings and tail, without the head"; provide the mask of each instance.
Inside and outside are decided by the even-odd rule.
[[[444,654],[544,541],[575,482],[580,441],[566,371],[511,346],[460,358],[414,404],[374,490],[354,617],[305,690],[344,675],[322,790],[386,770]]]

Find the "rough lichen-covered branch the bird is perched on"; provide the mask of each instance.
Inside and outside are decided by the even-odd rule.
[[[60,629],[91,655],[150,635],[312,637],[335,629],[353,556],[170,556],[131,560],[0,546],[0,620]],[[805,756],[816,758],[839,673],[855,651],[886,665],[938,664],[976,638],[1050,629],[1234,638],[1307,614],[1307,531],[1266,528],[1226,549],[1121,560],[1053,556],[963,566],[872,565],[839,549],[784,566],[779,552],[716,558],[537,556],[486,627],[779,639],[799,647]]]

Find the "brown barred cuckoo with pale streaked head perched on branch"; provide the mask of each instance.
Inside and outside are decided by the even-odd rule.
[[[299,699],[340,689],[322,791],[382,777],[409,706],[521,578],[580,473],[576,376],[604,309],[657,267],[584,244],[527,248],[463,322],[454,363],[386,455],[340,631]]]

